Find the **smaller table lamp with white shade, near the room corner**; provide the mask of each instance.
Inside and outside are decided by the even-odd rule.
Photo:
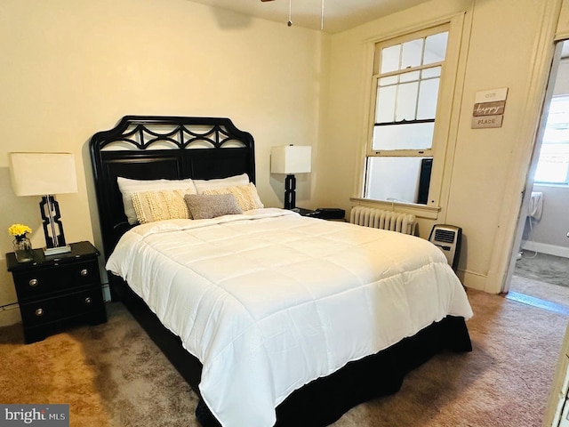
[[[270,172],[285,173],[284,209],[296,208],[296,177],[294,173],[309,173],[312,147],[284,145],[270,150]]]

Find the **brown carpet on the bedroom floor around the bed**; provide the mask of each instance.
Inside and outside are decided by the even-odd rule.
[[[333,426],[541,425],[567,318],[499,295],[469,299],[472,353],[431,359],[396,395]],[[0,329],[0,402],[69,403],[72,426],[196,427],[188,385],[120,303],[108,315],[28,345],[20,325]]]

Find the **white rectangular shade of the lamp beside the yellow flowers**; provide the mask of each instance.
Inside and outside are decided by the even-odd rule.
[[[10,177],[16,196],[76,193],[75,156],[71,153],[10,153]]]

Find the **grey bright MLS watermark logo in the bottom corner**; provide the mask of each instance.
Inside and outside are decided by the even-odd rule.
[[[0,427],[69,427],[69,405],[0,405]]]

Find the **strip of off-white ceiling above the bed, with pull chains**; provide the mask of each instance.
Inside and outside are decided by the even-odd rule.
[[[429,0],[192,0],[247,16],[282,22],[289,20],[289,6],[294,26],[320,29],[324,1],[324,31],[338,33],[402,11]],[[289,3],[290,2],[290,3]]]

